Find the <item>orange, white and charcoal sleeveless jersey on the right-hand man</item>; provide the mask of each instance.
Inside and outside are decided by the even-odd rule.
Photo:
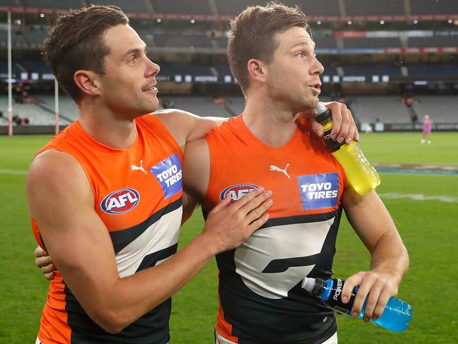
[[[227,193],[235,201],[258,186],[273,191],[267,223],[241,247],[217,255],[217,333],[235,343],[322,343],[336,331],[334,314],[307,295],[301,281],[333,273],[342,167],[302,119],[280,148],[255,138],[242,115],[206,140],[204,215]]]

